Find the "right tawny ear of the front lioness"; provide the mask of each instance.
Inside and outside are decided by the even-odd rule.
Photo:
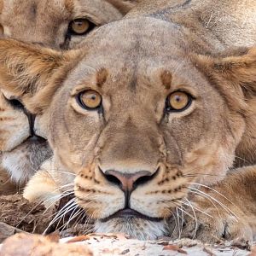
[[[225,96],[231,108],[249,111],[247,101],[256,99],[256,47],[224,55],[216,58],[194,55],[193,59],[207,79]]]

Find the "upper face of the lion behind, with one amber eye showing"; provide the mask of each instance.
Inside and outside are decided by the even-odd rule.
[[[105,0],[1,0],[0,35],[72,49],[96,26],[121,17],[121,11]]]

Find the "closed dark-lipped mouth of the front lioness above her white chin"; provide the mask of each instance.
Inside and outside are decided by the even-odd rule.
[[[107,222],[108,220],[111,220],[113,218],[143,218],[154,222],[160,222],[163,220],[163,218],[153,218],[149,217],[147,215],[144,215],[143,213],[137,212],[135,210],[132,210],[131,208],[125,208],[122,210],[119,210],[118,212],[114,212],[112,215],[108,216],[107,218],[102,218],[102,222]]]

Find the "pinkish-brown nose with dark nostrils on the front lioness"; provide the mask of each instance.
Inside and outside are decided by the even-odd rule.
[[[109,182],[119,185],[124,192],[132,192],[138,185],[147,183],[154,175],[148,171],[125,173],[109,170],[104,173]]]

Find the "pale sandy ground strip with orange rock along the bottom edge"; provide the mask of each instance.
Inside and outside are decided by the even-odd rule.
[[[20,245],[22,245],[20,247]],[[72,245],[72,247],[70,247]],[[223,245],[204,245],[200,241],[183,239],[180,241],[137,241],[122,234],[92,234],[69,237],[61,240],[42,236],[15,235],[0,246],[0,255],[5,256],[49,256],[49,255],[127,255],[127,256],[167,256],[167,255],[220,255],[255,256],[253,244],[247,249]],[[86,252],[81,253],[80,252]]]

